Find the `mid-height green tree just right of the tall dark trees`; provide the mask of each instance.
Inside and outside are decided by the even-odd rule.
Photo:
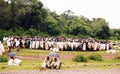
[[[57,15],[58,16],[58,15]],[[48,14],[46,18],[46,23],[42,28],[43,32],[47,32],[50,36],[58,36],[60,31],[58,29],[58,21],[55,12],[51,12]]]

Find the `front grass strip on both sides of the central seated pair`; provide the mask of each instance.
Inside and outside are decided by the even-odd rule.
[[[6,68],[0,68],[0,71],[16,71],[16,70],[39,70],[42,64],[41,60],[22,60],[21,66],[10,66]],[[64,61],[64,60],[62,60]],[[62,70],[79,70],[79,69],[108,69],[108,68],[120,68],[120,60],[107,60],[104,62],[90,61],[87,63],[73,62],[72,60],[65,60],[62,65]],[[119,64],[119,65],[118,65]],[[5,66],[7,63],[0,63],[0,66]]]

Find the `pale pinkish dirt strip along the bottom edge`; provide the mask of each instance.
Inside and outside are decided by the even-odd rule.
[[[0,74],[120,74],[120,69],[98,69],[98,70],[32,70],[0,72]]]

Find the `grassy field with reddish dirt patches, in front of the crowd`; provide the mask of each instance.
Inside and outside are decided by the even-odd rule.
[[[42,64],[42,61],[45,56],[50,51],[47,50],[36,50],[36,49],[21,49],[19,51],[18,56],[29,57],[28,59],[21,58],[22,65],[21,66],[10,66],[6,68],[2,68],[7,65],[6,63],[0,63],[0,71],[16,71],[16,70],[39,70]],[[62,70],[80,70],[80,69],[109,69],[109,68],[120,68],[120,59],[115,59],[117,56],[120,56],[120,52],[116,54],[108,54],[105,51],[94,51],[94,52],[83,52],[83,51],[60,51],[57,52],[60,55],[59,60],[63,61]],[[88,62],[74,62],[72,59],[79,54],[84,56],[89,56],[91,54],[98,53],[100,55],[114,55],[114,58],[104,58],[103,61],[92,61]],[[32,59],[30,57],[33,57]],[[37,58],[36,58],[37,57]],[[35,59],[36,58],[36,59]]]

